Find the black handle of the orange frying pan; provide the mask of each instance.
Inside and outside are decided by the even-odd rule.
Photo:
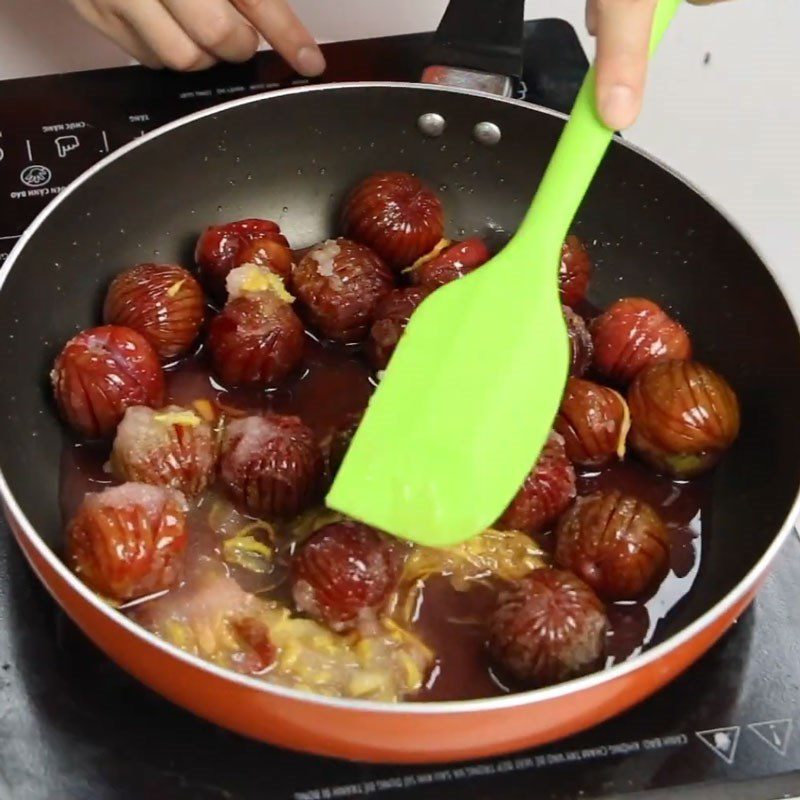
[[[522,77],[525,0],[450,0],[428,64]]]

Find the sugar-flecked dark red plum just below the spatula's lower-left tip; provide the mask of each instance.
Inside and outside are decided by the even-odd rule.
[[[336,631],[354,628],[386,605],[400,578],[395,545],[358,522],[320,528],[292,560],[299,611]]]

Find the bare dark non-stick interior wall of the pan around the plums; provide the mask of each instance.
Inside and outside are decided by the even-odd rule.
[[[447,120],[440,138],[418,131],[425,112]],[[481,121],[500,126],[495,147],[473,141]],[[64,431],[48,372],[62,344],[98,322],[120,269],[189,266],[204,226],[243,216],[275,219],[295,247],[312,244],[333,232],[347,188],[382,169],[411,170],[438,188],[452,235],[502,237],[520,220],[562,124],[520,104],[425,87],[329,87],[218,111],[97,171],[39,226],[0,292],[0,468],[28,519],[58,551]],[[742,237],[680,179],[622,144],[576,232],[596,263],[591,300],[643,295],[664,304],[742,401],[741,438],[703,511],[699,578],[669,633],[730,591],[789,513],[800,485],[800,341]]]

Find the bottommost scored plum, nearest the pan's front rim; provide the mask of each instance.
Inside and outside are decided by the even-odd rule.
[[[532,688],[602,666],[608,617],[592,589],[569,572],[536,569],[500,593],[489,620],[489,654]]]

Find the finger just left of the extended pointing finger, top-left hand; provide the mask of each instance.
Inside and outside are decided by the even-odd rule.
[[[258,49],[258,34],[228,0],[162,2],[192,41],[222,61],[247,61]]]

